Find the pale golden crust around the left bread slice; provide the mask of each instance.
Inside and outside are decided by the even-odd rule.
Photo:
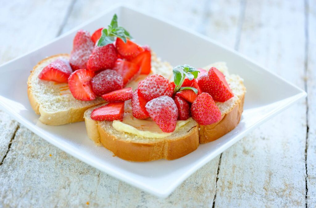
[[[83,117],[84,112],[88,108],[98,105],[98,104],[91,104],[91,105],[81,107],[81,108],[70,108],[69,110],[58,111],[58,112],[47,112],[43,108],[41,108],[40,104],[37,102],[33,94],[31,79],[34,76],[34,72],[36,68],[38,68],[43,62],[47,62],[49,59],[60,57],[60,56],[69,57],[69,54],[57,54],[57,55],[49,56],[41,60],[33,67],[33,70],[27,79],[27,96],[32,106],[32,109],[35,111],[36,114],[40,115],[39,120],[42,123],[51,125],[51,126],[58,126],[58,125],[63,125],[67,123],[84,121],[84,117]]]

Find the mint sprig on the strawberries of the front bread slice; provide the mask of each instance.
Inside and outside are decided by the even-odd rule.
[[[191,67],[187,64],[185,65],[178,65],[173,68],[173,80],[175,84],[175,88],[173,93],[177,93],[182,90],[193,90],[197,94],[197,89],[194,87],[181,87],[185,77],[189,80],[193,80],[197,78],[197,74],[200,72],[194,67]]]

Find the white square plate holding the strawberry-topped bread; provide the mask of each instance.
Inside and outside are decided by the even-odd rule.
[[[173,161],[135,163],[112,157],[112,153],[105,148],[96,147],[87,137],[84,122],[63,126],[48,126],[39,122],[39,116],[34,113],[27,98],[27,77],[30,70],[46,56],[69,53],[78,29],[92,33],[95,29],[106,26],[114,13],[119,17],[119,24],[138,43],[150,45],[162,60],[169,61],[173,66],[186,63],[199,68],[216,61],[227,62],[230,72],[244,78],[247,88],[240,124],[222,138],[200,145],[196,151],[185,157]],[[70,155],[160,197],[167,197],[188,176],[250,130],[305,96],[306,93],[301,89],[235,51],[200,34],[188,32],[179,26],[124,6],[110,9],[51,43],[0,67],[0,107],[3,110]]]

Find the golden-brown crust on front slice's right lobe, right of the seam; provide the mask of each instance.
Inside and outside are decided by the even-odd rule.
[[[208,143],[224,136],[233,130],[240,122],[243,112],[245,94],[240,98],[239,102],[232,110],[222,116],[222,119],[210,125],[200,125],[199,138],[200,143]]]

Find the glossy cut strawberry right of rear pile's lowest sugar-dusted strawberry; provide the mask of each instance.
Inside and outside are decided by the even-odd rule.
[[[131,80],[135,79],[140,73],[139,65],[123,59],[117,59],[114,63],[113,69],[122,75],[124,86]]]

